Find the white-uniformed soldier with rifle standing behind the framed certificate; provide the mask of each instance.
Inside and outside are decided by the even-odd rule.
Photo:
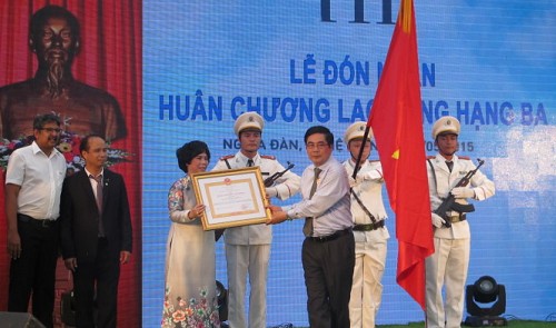
[[[212,170],[260,167],[262,179],[286,170],[272,156],[261,156],[262,118],[256,112],[240,115],[234,125],[240,150],[225,156]],[[290,170],[266,188],[269,198],[288,199],[299,190],[299,176]],[[228,268],[228,322],[231,328],[266,328],[267,276],[272,241],[271,226],[265,223],[228,228],[224,233]],[[245,317],[246,281],[249,274],[249,322]]]

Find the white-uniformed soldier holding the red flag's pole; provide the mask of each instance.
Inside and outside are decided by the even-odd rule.
[[[373,131],[369,131],[365,142],[357,177],[355,180],[351,178],[366,126],[365,122],[355,122],[348,127],[344,136],[351,155],[351,158],[344,162],[344,167],[351,183],[355,237],[354,282],[349,300],[351,328],[375,327],[375,317],[383,298],[380,281],[386,265],[387,240],[390,238],[385,226],[383,166],[379,161],[368,160]]]

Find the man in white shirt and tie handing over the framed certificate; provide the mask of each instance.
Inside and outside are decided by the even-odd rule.
[[[270,206],[276,225],[305,220],[301,257],[310,327],[349,327],[349,298],[355,265],[349,180],[332,155],[334,135],[316,126],[305,133],[312,165],[301,176],[302,200],[290,207]]]

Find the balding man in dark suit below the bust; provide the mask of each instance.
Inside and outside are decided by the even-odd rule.
[[[83,138],[79,150],[85,169],[64,180],[60,206],[62,256],[73,272],[76,326],[116,327],[120,264],[131,254],[126,185],[120,175],[103,168],[108,146],[100,136]]]

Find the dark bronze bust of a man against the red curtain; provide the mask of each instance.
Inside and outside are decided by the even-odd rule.
[[[76,16],[46,6],[31,17],[29,47],[36,54],[34,77],[0,88],[0,137],[8,140],[32,135],[37,115],[53,112],[72,135],[96,133],[107,140],[127,135],[117,99],[107,91],[73,78],[71,67],[81,50]]]

